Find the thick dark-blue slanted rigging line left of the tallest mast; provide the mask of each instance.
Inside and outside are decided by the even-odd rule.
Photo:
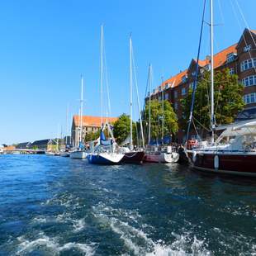
[[[200,57],[201,37],[202,37],[202,31],[203,31],[203,26],[204,26],[205,13],[206,13],[206,0],[204,0],[203,12],[202,12],[202,17],[201,17],[201,30],[200,30],[199,45],[198,45],[198,50],[197,50],[196,78],[195,78],[195,80],[193,82],[192,103],[191,103],[191,108],[190,108],[189,122],[188,122],[188,126],[187,126],[187,138],[186,138],[186,141],[188,140],[189,130],[190,130],[190,126],[191,126],[191,120],[192,120],[192,112],[193,112],[193,107],[194,107],[194,102],[195,102],[197,75],[198,75],[198,71],[199,71],[198,61],[199,61],[199,57]]]

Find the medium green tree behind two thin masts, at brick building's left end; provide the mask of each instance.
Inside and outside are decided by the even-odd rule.
[[[151,100],[150,103],[150,121],[151,121],[151,138],[157,139],[162,136],[162,121],[164,120],[164,136],[175,135],[178,131],[178,118],[173,111],[173,107],[170,102],[163,102],[157,100]],[[144,119],[146,126],[149,125],[149,102],[145,105]],[[148,130],[148,128],[147,128]]]

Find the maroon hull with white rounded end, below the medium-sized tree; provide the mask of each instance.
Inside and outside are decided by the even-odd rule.
[[[167,154],[161,153],[145,153],[144,162],[148,163],[177,163],[179,154],[176,152]]]

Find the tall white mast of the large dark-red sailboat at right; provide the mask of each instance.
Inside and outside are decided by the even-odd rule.
[[[213,70],[213,0],[210,0],[210,12],[211,12],[211,143],[214,143],[214,131],[215,131],[215,117],[214,117],[214,70]]]

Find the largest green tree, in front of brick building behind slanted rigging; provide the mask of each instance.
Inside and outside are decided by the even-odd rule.
[[[197,91],[195,93],[193,117],[198,130],[202,130],[202,126],[206,128],[211,126],[210,88],[211,73],[207,71],[203,73],[200,81],[197,83]],[[219,126],[233,122],[238,112],[243,110],[243,89],[244,86],[238,82],[238,76],[236,74],[230,74],[229,69],[215,73],[214,103],[216,125]],[[184,129],[187,128],[191,102],[192,89],[189,89],[187,97],[181,100],[184,117],[182,126]]]

